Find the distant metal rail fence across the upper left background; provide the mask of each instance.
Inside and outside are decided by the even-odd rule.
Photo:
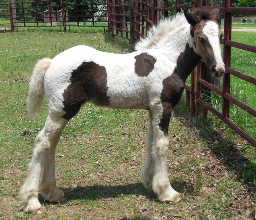
[[[99,7],[105,5],[106,7]],[[6,12],[2,14],[1,12]],[[99,13],[100,12],[100,13]],[[21,1],[0,4],[0,28],[22,27],[108,27],[107,1],[65,4],[65,0]]]

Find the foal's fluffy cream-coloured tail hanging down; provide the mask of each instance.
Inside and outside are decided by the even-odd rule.
[[[41,111],[44,96],[44,74],[51,63],[51,59],[43,58],[39,60],[34,67],[28,92],[27,110],[29,116],[34,116]]]

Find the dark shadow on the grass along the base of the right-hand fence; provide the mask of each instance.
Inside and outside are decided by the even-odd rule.
[[[190,110],[184,110],[188,109],[184,100],[179,104],[181,106],[174,109],[174,112],[176,116],[185,118],[185,126],[190,127],[193,120],[188,117]],[[193,126],[198,130],[202,141],[207,143],[212,155],[220,159],[229,171],[233,171],[238,181],[243,182],[253,193],[256,193],[256,165],[242,154],[244,147],[213,129],[212,122],[209,119],[202,120],[202,116],[194,120]],[[217,145],[213,144],[215,140],[219,142]]]

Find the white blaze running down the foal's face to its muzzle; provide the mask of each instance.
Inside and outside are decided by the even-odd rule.
[[[217,63],[216,71],[218,71],[218,73],[221,73],[225,70],[225,65],[222,61],[220,51],[219,26],[213,21],[208,21],[203,27],[203,34],[208,38],[208,41],[213,49],[214,58]]]

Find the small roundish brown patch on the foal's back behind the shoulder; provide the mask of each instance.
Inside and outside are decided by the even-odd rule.
[[[156,59],[148,53],[141,53],[135,58],[135,73],[138,76],[148,76],[149,73],[154,69]]]

